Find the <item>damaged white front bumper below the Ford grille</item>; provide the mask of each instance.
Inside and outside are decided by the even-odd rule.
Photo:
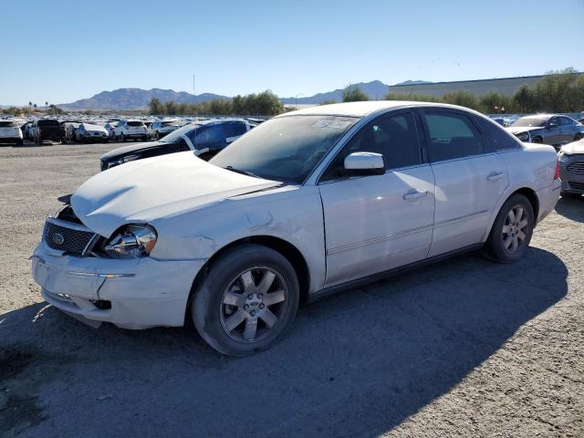
[[[61,255],[44,243],[32,274],[47,302],[96,327],[179,327],[204,260],[112,259]]]

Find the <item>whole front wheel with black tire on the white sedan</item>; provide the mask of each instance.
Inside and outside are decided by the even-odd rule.
[[[247,356],[283,338],[296,317],[298,300],[298,278],[286,257],[266,246],[241,245],[209,267],[194,291],[191,315],[212,348]]]

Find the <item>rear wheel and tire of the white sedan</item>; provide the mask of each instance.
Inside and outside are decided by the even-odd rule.
[[[519,213],[521,210],[523,213]],[[526,254],[534,226],[535,217],[529,200],[520,193],[512,195],[496,216],[485,243],[485,254],[499,263],[516,262]]]

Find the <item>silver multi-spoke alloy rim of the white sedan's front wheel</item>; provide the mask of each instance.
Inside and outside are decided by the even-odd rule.
[[[274,269],[254,267],[236,276],[221,300],[221,326],[229,338],[252,343],[284,318],[288,291]]]

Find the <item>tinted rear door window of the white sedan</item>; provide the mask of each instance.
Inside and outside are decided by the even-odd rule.
[[[430,161],[443,162],[485,153],[481,134],[464,114],[425,112],[430,136]]]

